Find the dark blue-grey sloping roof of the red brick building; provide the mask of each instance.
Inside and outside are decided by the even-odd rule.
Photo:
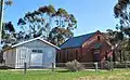
[[[68,39],[65,43],[61,45],[61,49],[64,48],[77,48],[81,46],[83,42],[86,42],[89,38],[91,38],[95,32],[73,37]]]

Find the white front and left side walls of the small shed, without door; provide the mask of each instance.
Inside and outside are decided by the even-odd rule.
[[[42,62],[43,65],[39,65],[39,67],[51,68],[52,63],[54,63],[55,67],[56,49],[40,40],[27,42],[16,46],[15,49],[5,51],[3,58],[5,59],[6,66],[13,68],[24,68],[24,63],[26,62],[27,67],[31,67],[31,54],[35,54],[31,50],[42,50],[42,61],[39,59],[39,63]],[[39,57],[35,58],[38,59]]]

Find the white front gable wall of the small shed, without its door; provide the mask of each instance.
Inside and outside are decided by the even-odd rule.
[[[25,53],[26,58],[21,58],[21,51],[23,50],[25,50],[25,52],[23,53]],[[42,66],[39,65],[39,67],[51,68],[52,67],[51,63],[55,63],[56,49],[47,43],[43,43],[40,40],[35,40],[35,41],[22,44],[16,48],[16,67],[15,68],[23,68],[24,65],[22,64],[24,64],[24,62],[27,63],[27,67],[31,66],[30,59],[31,59],[31,54],[34,54],[31,50],[42,50],[42,55],[43,55],[42,64],[43,65]],[[39,61],[39,63],[41,61]]]

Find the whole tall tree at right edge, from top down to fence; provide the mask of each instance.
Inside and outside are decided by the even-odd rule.
[[[114,6],[114,13],[115,18],[119,21],[116,28],[126,37],[126,39],[121,41],[121,53],[123,55],[130,55],[130,0],[118,0]],[[127,58],[128,57],[127,55]]]

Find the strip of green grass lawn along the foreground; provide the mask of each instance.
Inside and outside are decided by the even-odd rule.
[[[109,79],[108,79],[109,78]],[[129,69],[116,69],[113,71],[83,70],[69,72],[67,70],[0,70],[0,80],[130,80]]]

